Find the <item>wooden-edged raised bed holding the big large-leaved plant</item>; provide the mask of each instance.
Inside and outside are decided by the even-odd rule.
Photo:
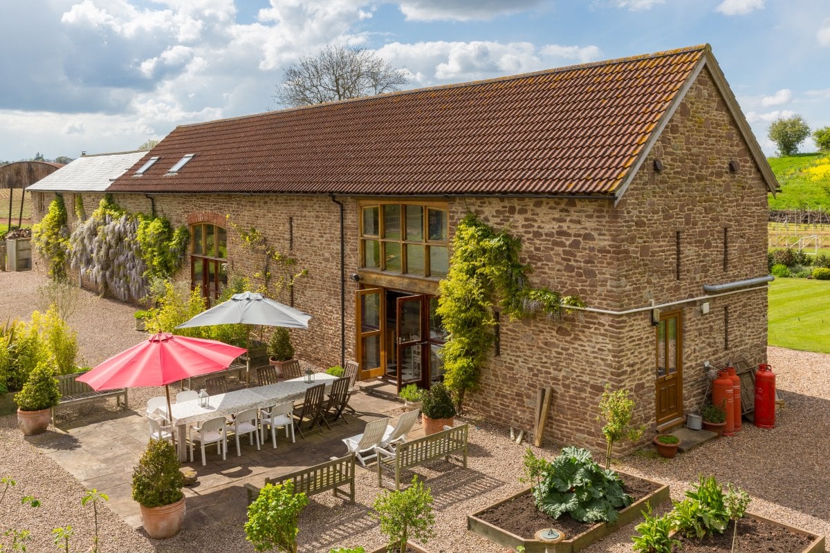
[[[575,551],[582,551],[594,541],[599,541],[618,528],[641,518],[642,515],[640,513],[646,509],[646,502],[650,502],[652,507],[656,507],[660,503],[669,500],[669,487],[667,484],[653,482],[645,478],[637,478],[626,473],[619,473],[619,475],[623,479],[623,483],[626,484],[626,491],[634,497],[634,502],[619,512],[620,516],[613,524],[608,524],[608,522],[598,522],[593,525],[584,524],[574,521],[568,515],[560,517],[559,520],[548,517],[544,513],[536,510],[533,496],[530,494],[530,488],[526,488],[500,502],[481,509],[479,512],[468,515],[467,529],[486,537],[488,540],[500,546],[510,547],[514,550],[516,547],[525,546],[525,553],[545,553],[545,551],[548,553],[573,553]],[[650,491],[636,494],[629,491],[632,487],[640,489],[646,488]],[[536,528],[537,531],[544,528],[554,528],[559,531],[564,531],[564,541],[560,541],[555,546],[551,546],[536,540],[533,536],[535,531],[527,532],[527,536],[517,536],[510,531],[510,528],[502,528],[485,520],[486,518],[492,518],[491,515],[497,512],[500,507],[515,510],[518,503],[525,506],[525,512],[527,512],[528,517],[540,516],[544,518],[544,521],[540,519],[539,527]],[[526,520],[527,517],[512,516],[509,518]],[[564,519],[567,519],[567,521]],[[505,524],[505,526],[508,525]]]

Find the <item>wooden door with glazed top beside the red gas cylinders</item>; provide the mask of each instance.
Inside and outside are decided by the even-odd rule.
[[[683,416],[683,325],[681,312],[657,323],[657,426]]]

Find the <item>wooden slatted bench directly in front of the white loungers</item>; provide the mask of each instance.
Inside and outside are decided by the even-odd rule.
[[[394,453],[387,449],[375,448],[378,454],[378,486],[383,488],[383,467],[395,472],[395,489],[401,489],[401,471],[422,463],[444,458],[449,460],[451,454],[461,454],[461,462],[466,468],[467,425],[447,428],[436,434],[413,439],[395,446]],[[391,482],[391,480],[390,480]]]

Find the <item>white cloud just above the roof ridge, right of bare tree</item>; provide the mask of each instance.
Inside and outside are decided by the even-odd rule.
[[[592,61],[597,46],[548,45],[530,42],[431,41],[415,44],[393,42],[378,50],[393,65],[406,67],[413,85],[435,85],[514,75],[569,63]]]

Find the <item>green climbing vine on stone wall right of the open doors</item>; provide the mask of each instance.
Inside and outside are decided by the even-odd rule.
[[[437,314],[450,337],[442,349],[444,382],[461,411],[467,391],[479,385],[495,335],[494,306],[510,320],[546,316],[560,318],[569,307],[582,307],[576,296],[531,288],[530,265],[520,261],[521,241],[505,230],[496,232],[475,214],[459,222],[452,239],[447,278],[439,285]]]

